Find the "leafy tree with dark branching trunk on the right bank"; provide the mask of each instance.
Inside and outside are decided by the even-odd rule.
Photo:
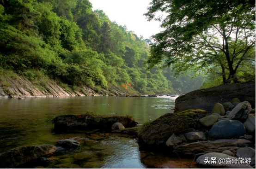
[[[255,72],[255,1],[152,0],[145,15],[165,28],[152,36],[150,68],[164,62],[175,63],[177,72],[209,73],[219,67],[223,83],[239,82],[238,72],[249,71],[244,65]]]

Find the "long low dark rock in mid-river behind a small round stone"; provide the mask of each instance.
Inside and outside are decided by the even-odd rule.
[[[71,129],[102,129],[111,130],[115,122],[121,122],[125,128],[134,127],[138,123],[128,116],[97,116],[91,113],[82,115],[62,115],[55,117],[55,131],[66,131]]]

